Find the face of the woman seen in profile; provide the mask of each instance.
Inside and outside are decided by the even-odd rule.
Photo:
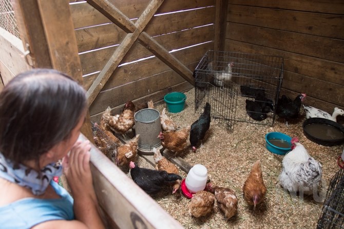
[[[85,114],[81,116],[77,126],[74,129],[72,129],[69,138],[56,144],[51,149],[51,151],[54,153],[54,161],[52,162],[56,162],[67,155],[67,153],[70,151],[74,143],[77,141],[84,121],[85,121]]]

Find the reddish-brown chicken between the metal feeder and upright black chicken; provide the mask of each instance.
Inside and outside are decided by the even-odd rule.
[[[175,153],[185,150],[190,145],[189,134],[191,127],[185,127],[174,132],[160,132],[158,138],[164,148]]]

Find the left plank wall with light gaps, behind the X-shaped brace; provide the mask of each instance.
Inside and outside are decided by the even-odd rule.
[[[113,2],[134,22],[148,3],[148,0]],[[71,3],[70,8],[88,89],[127,33],[110,23],[87,2]],[[166,50],[176,50],[172,54],[194,71],[204,53],[213,49],[214,23],[215,0],[164,1],[144,32],[154,37]],[[91,119],[98,120],[107,106],[114,108],[112,112],[116,113],[128,100],[158,101],[170,91],[184,91],[192,87],[137,42],[90,106]]]

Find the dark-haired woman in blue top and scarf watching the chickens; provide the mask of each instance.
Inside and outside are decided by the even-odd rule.
[[[31,70],[5,86],[0,93],[1,228],[104,228],[92,186],[91,146],[77,141],[86,111],[84,89],[55,70]],[[57,165],[62,158],[63,166]],[[62,170],[74,199],[53,181]]]

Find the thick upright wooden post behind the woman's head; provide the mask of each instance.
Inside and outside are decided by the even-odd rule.
[[[59,70],[83,85],[69,1],[12,0],[12,3],[33,67]],[[89,114],[81,131],[93,142]]]

